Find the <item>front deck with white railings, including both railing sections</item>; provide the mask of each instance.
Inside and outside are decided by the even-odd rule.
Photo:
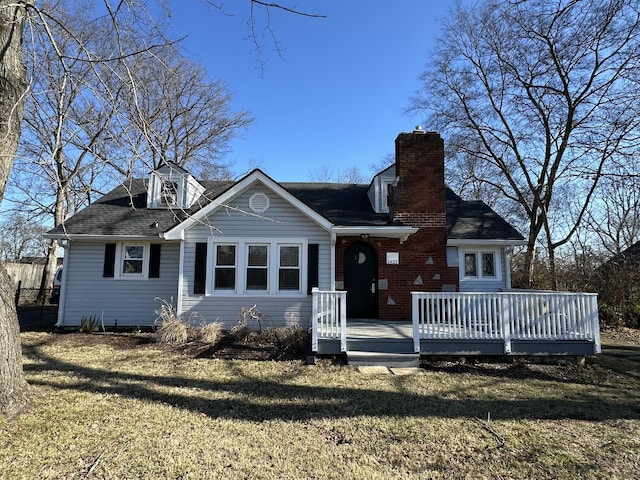
[[[312,349],[402,355],[600,353],[597,297],[567,292],[413,295],[412,319],[346,318],[346,292],[314,292]]]

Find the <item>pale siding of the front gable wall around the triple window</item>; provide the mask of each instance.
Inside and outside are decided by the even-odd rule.
[[[269,209],[263,215],[249,210],[249,202],[255,193],[264,193],[269,198]],[[241,240],[241,242],[240,242]],[[268,244],[272,261],[269,263],[269,289],[265,291],[246,291],[245,283],[236,279],[236,288],[243,291],[225,294],[214,288],[206,295],[193,294],[196,243],[207,243],[207,285],[213,287],[214,245],[238,244],[236,252],[237,275],[246,268],[246,250],[240,243]],[[225,328],[232,327],[242,308],[256,305],[264,315],[263,326],[309,326],[311,318],[311,295],[307,295],[307,246],[318,244],[320,289],[331,287],[331,235],[315,221],[302,214],[291,204],[276,196],[272,191],[257,185],[248,189],[231,201],[229,205],[214,212],[208,220],[194,225],[185,232],[184,275],[182,310],[188,316],[197,312],[205,321],[220,321]],[[278,291],[279,285],[279,247],[285,245],[300,246],[300,290]],[[275,248],[275,250],[273,250]],[[245,265],[243,267],[242,265]],[[244,274],[243,274],[244,275]],[[272,290],[269,290],[271,292]]]

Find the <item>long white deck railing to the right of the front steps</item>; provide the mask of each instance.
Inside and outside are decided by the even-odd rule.
[[[412,293],[413,340],[588,340],[600,352],[597,295],[565,292]]]

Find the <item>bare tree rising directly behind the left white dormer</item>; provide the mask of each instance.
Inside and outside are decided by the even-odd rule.
[[[161,61],[164,68],[158,68]],[[230,178],[228,145],[252,119],[231,110],[231,94],[202,66],[167,46],[130,67],[138,85],[116,112],[110,148],[96,153],[126,178],[171,161],[204,179]]]

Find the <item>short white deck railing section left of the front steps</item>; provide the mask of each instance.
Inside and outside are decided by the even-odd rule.
[[[340,348],[347,351],[347,292],[312,291],[311,347],[318,351],[318,340],[340,340]]]

